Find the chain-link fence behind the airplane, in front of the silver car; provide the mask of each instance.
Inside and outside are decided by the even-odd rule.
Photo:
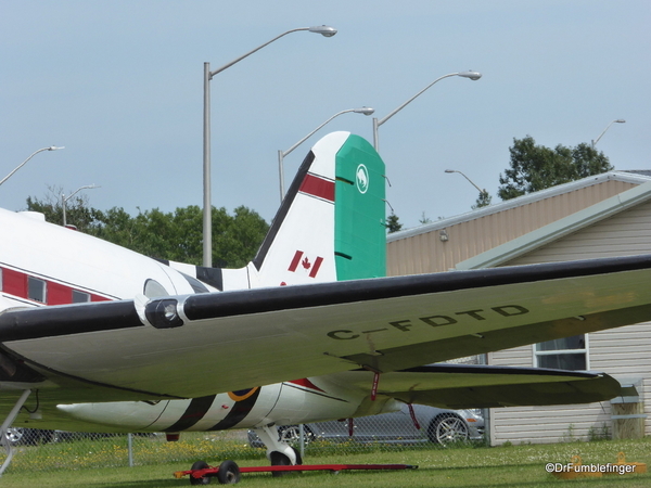
[[[413,416],[412,416],[413,415]],[[414,422],[416,419],[416,422]],[[432,449],[483,439],[477,411],[446,411],[406,407],[396,413],[354,420],[290,425],[278,428],[303,459],[310,455]],[[22,470],[80,470],[106,466],[189,463],[196,460],[259,460],[266,464],[264,445],[254,432],[182,433],[178,441],[165,434],[86,434],[59,431],[11,429],[14,447],[10,472]],[[0,459],[2,462],[3,459]]]

